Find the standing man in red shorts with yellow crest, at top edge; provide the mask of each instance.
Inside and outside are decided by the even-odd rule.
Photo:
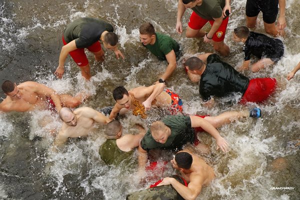
[[[191,8],[186,37],[204,37],[204,42],[211,42],[214,50],[222,55],[229,54],[229,47],[224,44],[224,37],[230,13],[230,0],[178,0],[176,31],[182,33],[181,18],[186,8]],[[227,10],[227,11],[226,11]],[[201,28],[209,21],[211,28],[205,33]]]

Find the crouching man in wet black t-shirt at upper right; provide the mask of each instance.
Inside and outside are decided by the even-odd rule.
[[[277,63],[284,53],[284,45],[280,39],[249,31],[246,26],[234,28],[232,39],[235,42],[244,43],[243,52],[245,57],[242,66],[238,70],[249,69],[252,54],[259,58],[251,66],[251,71],[257,72],[261,68]]]

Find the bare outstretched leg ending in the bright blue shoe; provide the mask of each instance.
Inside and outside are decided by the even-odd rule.
[[[213,125],[213,127],[218,128],[223,124],[231,123],[232,121],[246,116],[249,116],[248,110],[223,112],[217,116],[205,116],[204,119]]]

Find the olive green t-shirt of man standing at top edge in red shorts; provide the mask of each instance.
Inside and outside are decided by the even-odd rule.
[[[200,17],[206,20],[213,20],[222,16],[225,0],[203,0],[201,5],[196,5],[191,9]]]

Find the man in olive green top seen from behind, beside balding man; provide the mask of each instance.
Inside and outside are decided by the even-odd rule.
[[[122,125],[112,120],[105,126],[106,141],[99,147],[99,155],[106,164],[119,165],[121,162],[130,162],[134,148],[138,147],[144,135],[144,129],[138,134],[122,135]],[[125,160],[125,161],[124,161]]]

